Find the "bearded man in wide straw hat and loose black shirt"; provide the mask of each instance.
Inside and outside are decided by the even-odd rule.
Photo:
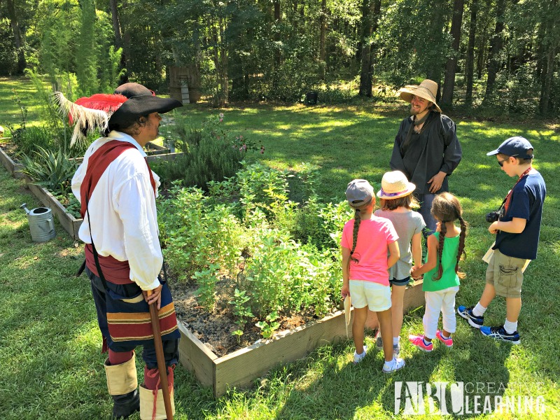
[[[416,185],[414,195],[426,221],[425,236],[435,232],[430,214],[433,198],[449,191],[447,178],[463,156],[455,123],[442,114],[436,94],[437,83],[428,79],[399,90],[400,99],[410,103],[411,116],[400,123],[390,162],[393,171],[403,172]]]

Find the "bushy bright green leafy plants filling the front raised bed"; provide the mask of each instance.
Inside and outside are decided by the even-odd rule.
[[[160,202],[169,266],[183,281],[192,277],[197,282],[202,306],[214,307],[221,276],[227,279],[222,288],[228,295],[235,295],[235,289],[244,293],[244,313],[251,311],[263,323],[277,311],[324,316],[337,304],[341,274],[338,243],[332,239],[339,238],[349,209],[344,202],[291,202],[288,176],[244,164],[231,179],[211,183],[208,195],[176,184]],[[298,217],[302,214],[307,217]],[[311,218],[317,223],[309,223]],[[296,241],[301,232],[315,243]],[[241,311],[239,302],[230,304],[232,311]],[[268,321],[270,327],[274,319]]]

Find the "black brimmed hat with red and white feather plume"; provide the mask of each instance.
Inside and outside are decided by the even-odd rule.
[[[155,96],[155,92],[139,83],[125,83],[113,94],[97,93],[71,102],[62,92],[54,93],[60,111],[68,116],[74,131],[70,146],[85,139],[87,133],[127,128],[132,120],[153,112],[167,113],[183,106],[176,99]]]

